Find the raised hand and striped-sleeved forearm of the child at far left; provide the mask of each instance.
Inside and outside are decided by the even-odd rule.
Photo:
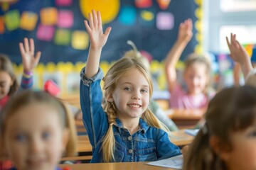
[[[23,76],[21,80],[21,89],[30,89],[33,86],[33,71],[38,65],[41,57],[41,52],[36,52],[35,44],[32,38],[24,38],[24,42],[18,44],[21,52],[22,64],[23,64]]]

